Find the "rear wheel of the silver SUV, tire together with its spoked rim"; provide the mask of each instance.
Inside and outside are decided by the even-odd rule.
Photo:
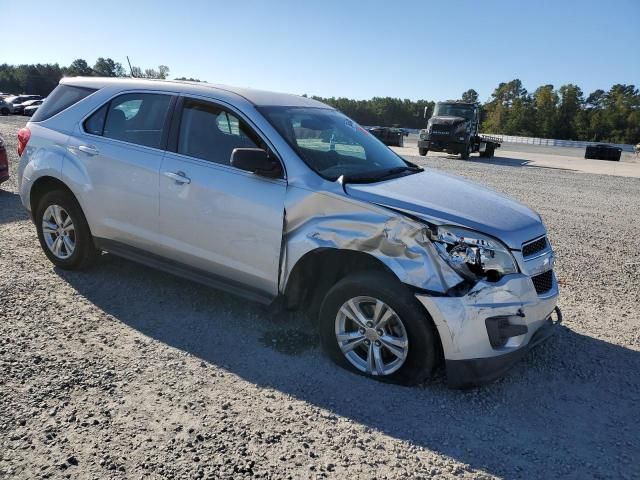
[[[68,226],[68,218],[71,228]],[[83,270],[91,266],[98,257],[99,251],[93,243],[84,213],[70,192],[53,190],[46,193],[38,202],[34,220],[40,246],[55,266],[64,270]],[[47,220],[51,227],[57,226],[59,230],[54,231],[50,228],[45,232],[43,220]],[[63,227],[66,231],[60,235]],[[56,240],[58,238],[60,240]],[[55,250],[59,254],[54,253]]]

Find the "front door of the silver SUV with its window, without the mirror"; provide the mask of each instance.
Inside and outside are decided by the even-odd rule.
[[[222,280],[275,296],[286,181],[230,164],[234,148],[267,144],[223,103],[184,98],[160,171],[159,232],[165,256]]]

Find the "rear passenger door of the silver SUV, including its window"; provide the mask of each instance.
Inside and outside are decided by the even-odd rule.
[[[95,237],[155,250],[158,177],[174,102],[166,92],[122,93],[70,139],[90,179],[83,206]]]

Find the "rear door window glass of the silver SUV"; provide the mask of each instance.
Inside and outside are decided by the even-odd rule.
[[[92,135],[160,148],[171,95],[127,93],[112,99],[84,122]]]

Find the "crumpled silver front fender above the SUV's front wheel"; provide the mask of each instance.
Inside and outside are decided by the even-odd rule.
[[[445,293],[462,278],[443,262],[425,225],[397,212],[363,205],[330,192],[290,188],[285,206],[280,291],[297,262],[317,249],[364,252],[398,279],[418,289]]]

